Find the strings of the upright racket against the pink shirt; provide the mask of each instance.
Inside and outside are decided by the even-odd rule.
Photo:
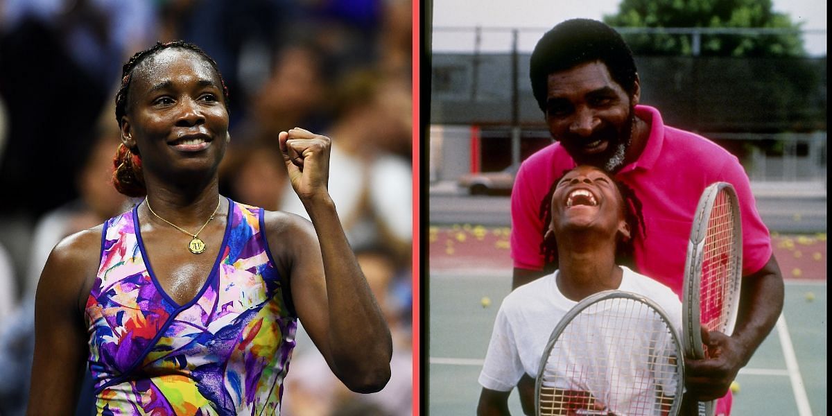
[[[701,324],[708,331],[726,332],[729,320],[732,277],[740,265],[736,261],[734,210],[726,191],[719,191],[711,209],[702,255],[700,286]]]

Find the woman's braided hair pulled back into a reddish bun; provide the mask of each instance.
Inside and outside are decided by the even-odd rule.
[[[121,117],[125,116],[128,110],[127,96],[130,92],[131,80],[136,67],[138,67],[141,62],[144,62],[147,57],[151,57],[156,55],[157,52],[174,47],[194,52],[210,64],[211,68],[216,73],[216,76],[220,78],[223,102],[225,102],[225,109],[227,111],[229,108],[228,87],[225,85],[225,80],[222,78],[220,67],[217,66],[216,62],[211,59],[205,51],[192,43],[183,41],[165,43],[156,42],[156,45],[153,45],[152,47],[149,47],[141,52],[136,52],[136,54],[133,55],[133,57],[131,57],[130,60],[127,61],[121,68],[121,87],[119,87],[118,92],[116,92],[116,121],[118,121],[119,128],[121,128]],[[124,146],[123,143],[119,144],[118,149],[116,149],[116,156],[113,158],[113,166],[115,167],[115,171],[113,171],[112,174],[112,182],[113,185],[116,186],[116,191],[119,191],[121,194],[126,196],[134,197],[145,196],[147,194],[144,176],[141,173],[141,155],[139,155],[138,147],[133,146],[131,148],[127,148],[127,146]]]

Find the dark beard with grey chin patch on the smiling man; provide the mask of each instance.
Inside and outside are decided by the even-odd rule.
[[[560,140],[561,144],[572,156],[572,159],[578,165],[592,165],[601,168],[610,173],[615,173],[624,166],[624,159],[627,149],[632,144],[633,130],[636,126],[636,112],[630,109],[630,115],[627,121],[622,126],[622,130],[618,131],[615,126],[609,125],[602,130],[594,132],[589,137],[567,136],[567,140]],[[592,141],[603,140],[607,141],[607,149],[597,155],[582,155],[580,149],[574,146],[565,145],[568,143],[591,143]]]

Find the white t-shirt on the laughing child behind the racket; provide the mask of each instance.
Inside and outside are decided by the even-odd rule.
[[[645,275],[621,266],[622,283],[617,290],[644,295],[665,311],[677,335],[681,329],[681,301],[670,288]],[[486,389],[510,391],[522,375],[535,378],[543,350],[557,322],[576,301],[567,299],[557,288],[557,275],[543,276],[513,290],[503,300],[479,384]]]

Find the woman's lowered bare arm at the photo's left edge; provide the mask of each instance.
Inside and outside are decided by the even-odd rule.
[[[101,227],[70,235],[52,249],[35,297],[35,354],[27,414],[72,414],[87,355],[83,308],[95,275]]]

